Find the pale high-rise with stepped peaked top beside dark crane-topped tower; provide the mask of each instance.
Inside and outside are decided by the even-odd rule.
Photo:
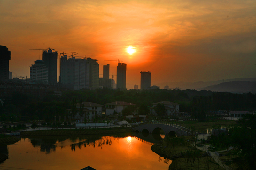
[[[35,64],[30,66],[30,79],[42,83],[48,83],[48,68],[44,61],[36,60]]]

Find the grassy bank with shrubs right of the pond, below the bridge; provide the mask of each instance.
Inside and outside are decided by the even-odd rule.
[[[177,139],[177,140],[176,140]],[[191,163],[191,158],[184,158],[184,155],[189,150],[189,145],[191,145],[191,141],[193,140],[191,137],[176,137],[175,142],[176,145],[172,144],[168,145],[168,143],[163,140],[157,144],[151,146],[151,150],[157,153],[164,158],[172,160],[171,165],[169,166],[169,170],[215,170],[220,169],[224,170],[218,163],[214,161],[213,158],[206,156],[202,157],[205,154],[204,151],[199,152],[199,159],[196,158],[194,163]],[[182,140],[181,140],[182,139]],[[182,143],[180,143],[183,141]],[[187,142],[187,143],[186,143]],[[188,161],[189,160],[189,161]]]

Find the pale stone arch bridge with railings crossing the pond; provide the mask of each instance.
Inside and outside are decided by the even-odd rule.
[[[143,124],[132,128],[134,131],[147,132],[147,133],[159,133],[162,129],[165,135],[176,134],[177,136],[188,136],[192,134],[190,129],[175,125],[175,124]]]

